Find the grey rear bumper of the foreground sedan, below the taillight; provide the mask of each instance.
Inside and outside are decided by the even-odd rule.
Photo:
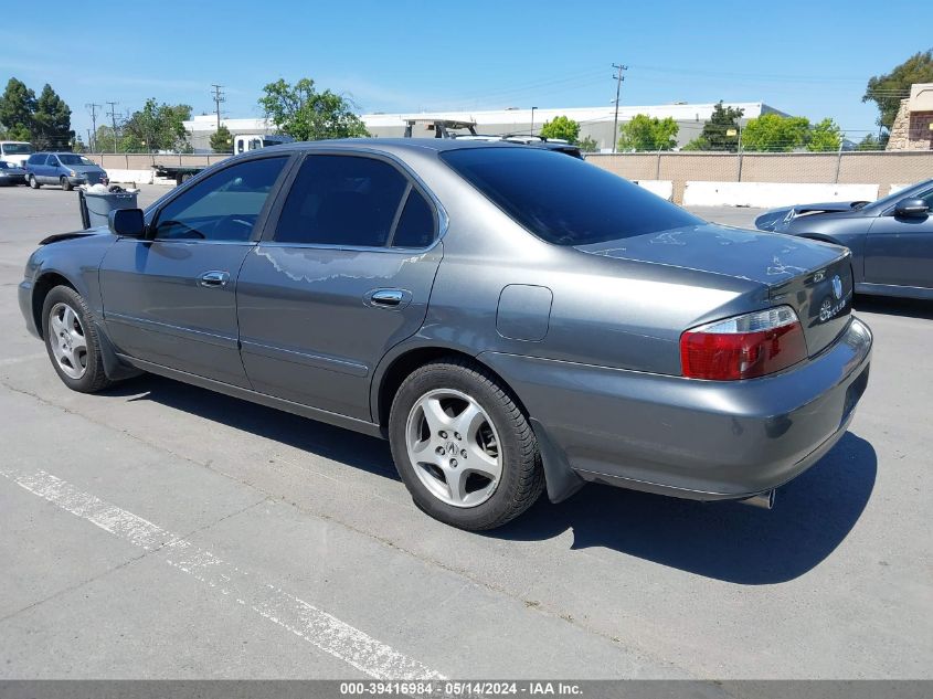
[[[872,337],[852,318],[829,348],[785,372],[698,381],[485,353],[547,432],[545,460],[583,480],[715,500],[803,473],[845,433],[868,382]],[[553,464],[545,464],[549,478]],[[552,499],[560,499],[550,488]]]

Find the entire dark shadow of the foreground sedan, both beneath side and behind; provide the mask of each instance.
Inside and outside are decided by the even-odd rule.
[[[389,443],[156,375],[108,392],[155,401],[219,424],[400,480]],[[696,502],[589,485],[480,536],[543,541],[573,530],[573,549],[604,548],[746,585],[794,580],[826,559],[861,516],[874,487],[872,446],[852,433],[777,491],[773,510]]]

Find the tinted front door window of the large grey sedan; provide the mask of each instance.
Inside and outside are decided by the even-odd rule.
[[[198,182],[159,211],[152,237],[248,241],[287,160],[247,160]]]

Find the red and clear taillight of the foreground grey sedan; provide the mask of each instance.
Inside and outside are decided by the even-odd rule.
[[[806,357],[804,329],[789,306],[719,320],[680,336],[680,367],[690,379],[753,379]]]

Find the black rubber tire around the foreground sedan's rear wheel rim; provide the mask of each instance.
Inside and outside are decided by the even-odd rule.
[[[501,443],[502,474],[492,495],[475,507],[456,507],[433,495],[409,458],[406,424],[417,401],[436,390],[455,390],[476,401]],[[494,529],[531,507],[544,489],[538,442],[527,416],[501,381],[485,368],[457,357],[432,361],[399,388],[389,417],[389,439],[399,475],[412,499],[431,517],[470,531]]]

